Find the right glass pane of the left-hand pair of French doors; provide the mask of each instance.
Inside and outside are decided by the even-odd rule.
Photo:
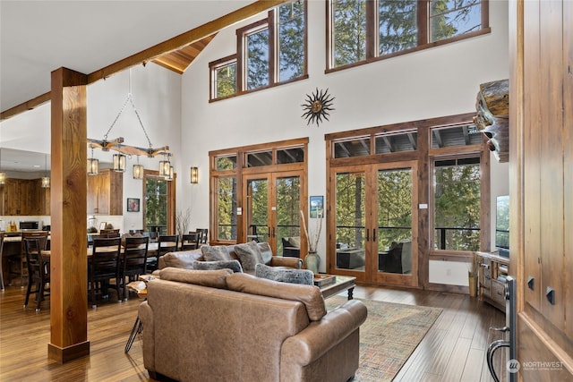
[[[278,178],[277,186],[277,253],[300,257],[300,177]]]

